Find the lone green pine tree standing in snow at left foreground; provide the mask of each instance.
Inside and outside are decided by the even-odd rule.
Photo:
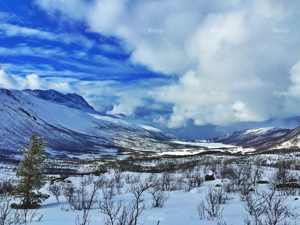
[[[42,194],[39,190],[46,184],[46,176],[43,171],[49,167],[50,162],[45,163],[45,147],[48,139],[43,141],[37,133],[29,138],[28,148],[20,148],[23,159],[20,161],[16,176],[20,178],[19,183],[13,188],[14,197],[21,199],[20,204],[13,203],[13,208],[36,208],[49,195]]]

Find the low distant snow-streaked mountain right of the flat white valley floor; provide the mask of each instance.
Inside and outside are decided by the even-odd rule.
[[[236,131],[234,133],[226,134],[218,138],[209,139],[209,141],[247,147],[274,140],[290,131],[291,129],[279,127],[259,128]]]

